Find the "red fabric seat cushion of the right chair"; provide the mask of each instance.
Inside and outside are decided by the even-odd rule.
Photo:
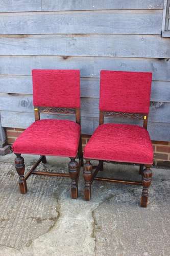
[[[129,163],[153,163],[149,133],[131,124],[98,126],[84,148],[84,158]]]

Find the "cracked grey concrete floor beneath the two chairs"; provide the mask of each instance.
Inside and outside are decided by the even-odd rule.
[[[25,155],[27,169],[36,159]],[[69,159],[47,161],[37,169],[67,171]],[[170,170],[153,168],[149,205],[141,208],[141,187],[98,181],[85,202],[82,170],[78,200],[70,199],[68,178],[32,175],[21,195],[13,162],[13,154],[0,157],[0,256],[170,255]],[[104,168],[100,176],[140,179],[138,166]]]

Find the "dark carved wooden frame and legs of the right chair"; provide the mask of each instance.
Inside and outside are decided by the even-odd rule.
[[[147,130],[147,127],[148,127],[148,114],[100,111],[99,125],[104,123],[104,117],[123,117],[123,118],[139,119],[139,120],[143,120],[144,129]],[[99,160],[99,159],[95,159],[95,160]],[[83,176],[85,180],[84,199],[86,201],[90,200],[91,184],[93,180],[109,181],[109,182],[115,182],[115,183],[143,186],[142,194],[141,194],[141,206],[147,207],[148,195],[149,195],[148,190],[152,180],[151,165],[139,164],[139,174],[141,175],[141,181],[130,181],[130,180],[119,180],[119,179],[105,178],[105,177],[96,177],[99,170],[103,170],[103,162],[105,161],[99,160],[98,166],[92,166],[92,164],[90,163],[91,159],[85,159],[85,161],[86,163],[84,164]],[[95,169],[93,173],[92,173],[92,169]]]

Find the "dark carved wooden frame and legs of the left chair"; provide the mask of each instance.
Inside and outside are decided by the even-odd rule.
[[[51,108],[51,107],[42,107],[42,106],[34,106],[34,116],[35,121],[40,120],[40,113],[50,113],[50,114],[67,114],[67,115],[76,115],[76,123],[81,124],[81,117],[80,117],[80,108]],[[29,172],[24,175],[25,173],[25,164],[24,159],[21,157],[21,154],[15,154],[15,168],[19,175],[19,188],[21,194],[27,193],[27,179],[30,177],[31,174],[33,175],[44,175],[44,176],[51,176],[51,177],[67,177],[71,178],[71,198],[77,199],[78,198],[78,180],[80,174],[80,167],[83,166],[83,151],[82,151],[82,137],[80,133],[80,140],[79,140],[79,147],[78,147],[78,154],[76,158],[79,159],[79,162],[76,161],[76,158],[70,157],[70,162],[68,163],[68,173],[51,173],[51,172],[40,172],[36,171],[36,167],[42,163],[46,163],[46,157],[40,156],[37,162],[32,166]]]

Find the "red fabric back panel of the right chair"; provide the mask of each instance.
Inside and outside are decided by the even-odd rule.
[[[152,73],[101,71],[100,110],[148,114]]]

